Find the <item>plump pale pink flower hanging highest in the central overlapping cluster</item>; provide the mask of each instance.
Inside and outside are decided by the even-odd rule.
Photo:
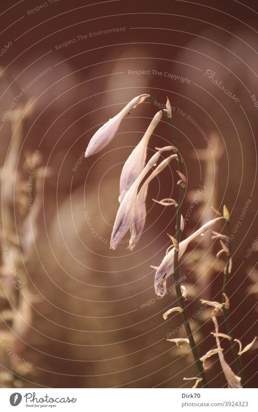
[[[130,189],[132,184],[136,181],[140,172],[143,170],[145,165],[145,159],[147,154],[147,146],[149,139],[162,118],[162,111],[156,113],[153,117],[148,129],[144,133],[142,139],[134,148],[125,164],[123,165],[121,177],[120,177],[120,197],[119,201],[121,203],[126,192]]]

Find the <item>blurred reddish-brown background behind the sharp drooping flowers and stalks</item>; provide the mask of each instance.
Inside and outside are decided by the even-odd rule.
[[[189,348],[166,340],[186,337],[180,314],[162,317],[177,306],[175,291],[157,299],[150,267],[175,233],[173,207],[152,201],[177,199],[173,162],[149,186],[136,249],[126,249],[128,236],[109,249],[122,165],[157,108],[146,100],[102,152],[83,154],[135,96],[169,97],[187,177],[182,238],[214,217],[211,206],[228,206],[233,229],[241,221],[228,297],[233,334],[250,343],[258,334],[257,3],[2,0],[0,7],[1,386],[191,387],[182,380],[196,376]],[[171,143],[162,121],[148,158]],[[180,264],[201,356],[214,347],[214,327],[199,299],[221,301],[219,249],[209,232]],[[256,345],[242,356],[249,387],[258,384],[256,356]],[[211,387],[227,387],[216,356],[207,377]]]

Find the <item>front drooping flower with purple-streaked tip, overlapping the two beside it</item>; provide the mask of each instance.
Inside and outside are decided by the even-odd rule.
[[[152,156],[152,158],[149,160],[147,165],[137,177],[136,181],[132,184],[128,192],[125,194],[116,215],[113,231],[111,234],[110,249],[116,249],[120,239],[131,228],[136,213],[138,187],[149,170],[151,170],[152,166],[154,166],[158,161],[161,152],[166,150],[171,150],[171,146],[162,148]]]

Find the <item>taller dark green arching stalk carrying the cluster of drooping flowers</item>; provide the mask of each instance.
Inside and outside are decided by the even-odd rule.
[[[158,103],[151,95],[150,98],[152,99],[152,101],[154,103]],[[158,106],[159,107],[159,106]],[[178,157],[178,167],[179,167],[179,171],[182,173],[182,156],[179,150],[179,144],[178,144],[178,138],[176,135],[176,131],[174,129],[174,126],[172,124],[172,121],[170,119],[170,117],[167,116],[167,113],[165,112],[165,110],[163,110],[161,108],[161,111],[163,113],[163,115],[165,116],[167,123],[169,125],[170,131],[172,133],[173,139],[174,139],[174,143],[175,143],[175,147],[177,149],[177,157]],[[179,243],[180,242],[180,237],[181,237],[181,209],[182,209],[182,199],[183,199],[183,186],[182,184],[180,184],[179,186],[179,198],[178,198],[178,205],[176,207],[176,240]],[[178,281],[179,279],[179,268],[178,268],[178,250],[175,249],[175,253],[174,253],[174,273],[173,273],[173,277],[175,280],[175,289],[176,289],[176,294],[177,294],[177,299],[178,299],[178,305],[182,308],[182,319],[183,319],[183,325],[184,325],[184,329],[187,335],[187,338],[189,339],[189,344],[191,347],[191,351],[195,360],[195,364],[196,364],[196,368],[197,368],[197,373],[198,373],[198,377],[202,378],[202,380],[199,382],[199,386],[202,388],[207,388],[207,381],[205,378],[205,374],[204,374],[204,370],[203,370],[203,364],[200,361],[198,352],[197,352],[197,346],[194,340],[194,336],[189,324],[189,320],[188,320],[188,316],[186,313],[186,309],[185,309],[185,305],[184,305],[184,298],[182,297],[182,292],[181,292],[181,287],[180,287],[180,282]]]

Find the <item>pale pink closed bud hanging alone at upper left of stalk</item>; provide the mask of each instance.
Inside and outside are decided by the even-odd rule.
[[[121,120],[127,115],[131,109],[135,108],[138,104],[142,103],[149,95],[140,95],[129,101],[129,103],[119,112],[116,116],[108,120],[100,129],[97,130],[91,137],[88,147],[85,151],[85,157],[89,157],[92,154],[98,153],[102,149],[106,148],[109,142],[113,139]]]

